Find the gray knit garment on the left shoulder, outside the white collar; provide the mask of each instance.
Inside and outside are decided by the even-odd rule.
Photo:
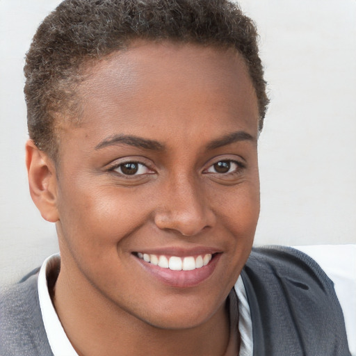
[[[51,355],[38,299],[38,268],[0,294],[0,355]]]

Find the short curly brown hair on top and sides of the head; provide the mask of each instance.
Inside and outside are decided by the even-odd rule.
[[[76,86],[83,67],[136,39],[233,47],[245,59],[259,104],[268,105],[257,30],[227,0],[65,0],[49,14],[26,54],[24,87],[29,136],[56,158],[56,127],[79,116]]]

